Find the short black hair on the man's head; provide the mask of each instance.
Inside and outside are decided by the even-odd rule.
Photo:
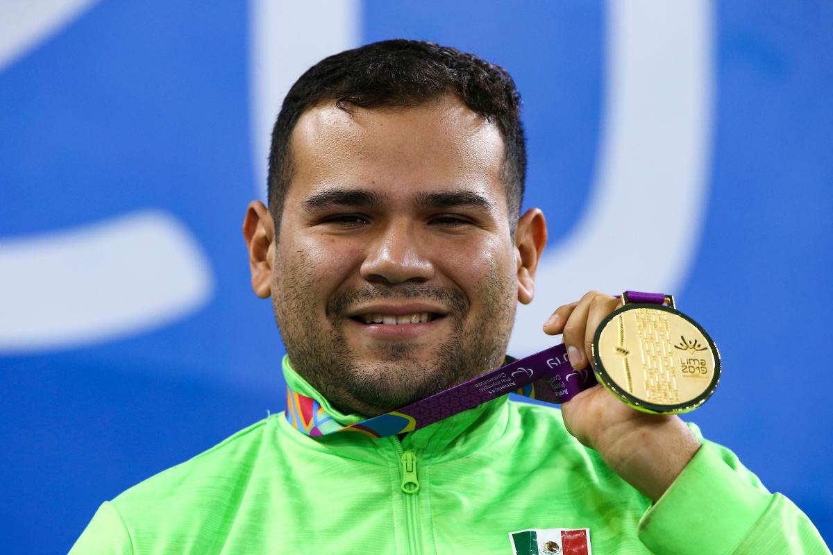
[[[456,94],[471,111],[497,126],[506,156],[511,229],[520,216],[526,181],[526,140],[521,95],[505,69],[436,42],[392,39],[346,50],[310,67],[292,85],[272,129],[269,152],[269,210],[280,228],[284,199],[292,181],[292,130],[302,114],[321,102],[362,108],[416,107]]]

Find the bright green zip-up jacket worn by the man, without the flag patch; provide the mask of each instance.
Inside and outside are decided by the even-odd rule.
[[[402,441],[312,438],[276,414],[103,503],[70,553],[526,555],[509,533],[530,528],[589,528],[596,555],[830,553],[789,499],[701,443],[651,505],[539,404],[495,399]]]

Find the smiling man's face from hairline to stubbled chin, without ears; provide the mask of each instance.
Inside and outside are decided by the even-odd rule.
[[[518,295],[503,148],[453,96],[297,122],[272,302],[337,408],[381,414],[500,365]]]

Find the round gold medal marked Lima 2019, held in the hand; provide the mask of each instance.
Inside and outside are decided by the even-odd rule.
[[[714,393],[721,359],[701,325],[668,304],[629,302],[646,295],[628,291],[625,305],[601,321],[592,344],[596,379],[634,409],[679,414]],[[654,295],[656,296],[656,295]]]

